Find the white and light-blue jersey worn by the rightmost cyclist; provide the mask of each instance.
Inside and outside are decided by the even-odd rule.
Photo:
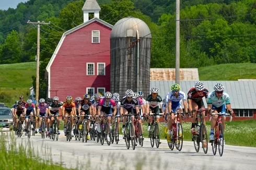
[[[212,91],[208,94],[207,104],[212,104],[215,107],[220,107],[224,104],[230,104],[229,95],[226,92],[223,92],[223,95],[218,99],[215,91]]]

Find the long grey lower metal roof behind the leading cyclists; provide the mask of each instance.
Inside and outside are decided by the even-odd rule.
[[[235,109],[256,109],[256,81],[203,81],[205,88],[210,92],[217,82],[225,86],[225,92],[230,96],[231,107]],[[159,88],[159,95],[164,98],[166,93],[170,91],[171,85],[175,81],[150,81],[151,87]],[[181,91],[188,94],[190,88],[194,86],[196,81],[180,81]],[[186,96],[187,97],[187,96]],[[206,105],[206,101],[204,104]]]

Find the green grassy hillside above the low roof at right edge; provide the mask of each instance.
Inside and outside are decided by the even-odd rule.
[[[211,80],[237,80],[256,79],[256,64],[220,64],[198,69],[199,79],[202,81]]]

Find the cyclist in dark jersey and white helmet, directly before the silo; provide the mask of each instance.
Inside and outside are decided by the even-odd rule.
[[[131,89],[128,89],[125,92],[125,96],[121,100],[120,115],[121,116],[123,114],[127,115],[128,113],[133,114],[133,107],[135,107],[135,111],[136,111],[135,113],[139,114],[138,101],[133,98],[133,91]],[[124,126],[126,124],[126,121],[127,121],[127,116],[124,116],[123,117],[123,127],[122,127],[123,134],[125,132]],[[134,129],[134,116],[132,116],[132,125],[133,125],[133,129]]]

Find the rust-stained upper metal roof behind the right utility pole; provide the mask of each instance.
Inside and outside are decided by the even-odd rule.
[[[175,80],[175,68],[150,68],[150,80]],[[197,68],[180,68],[180,80],[199,81]]]

